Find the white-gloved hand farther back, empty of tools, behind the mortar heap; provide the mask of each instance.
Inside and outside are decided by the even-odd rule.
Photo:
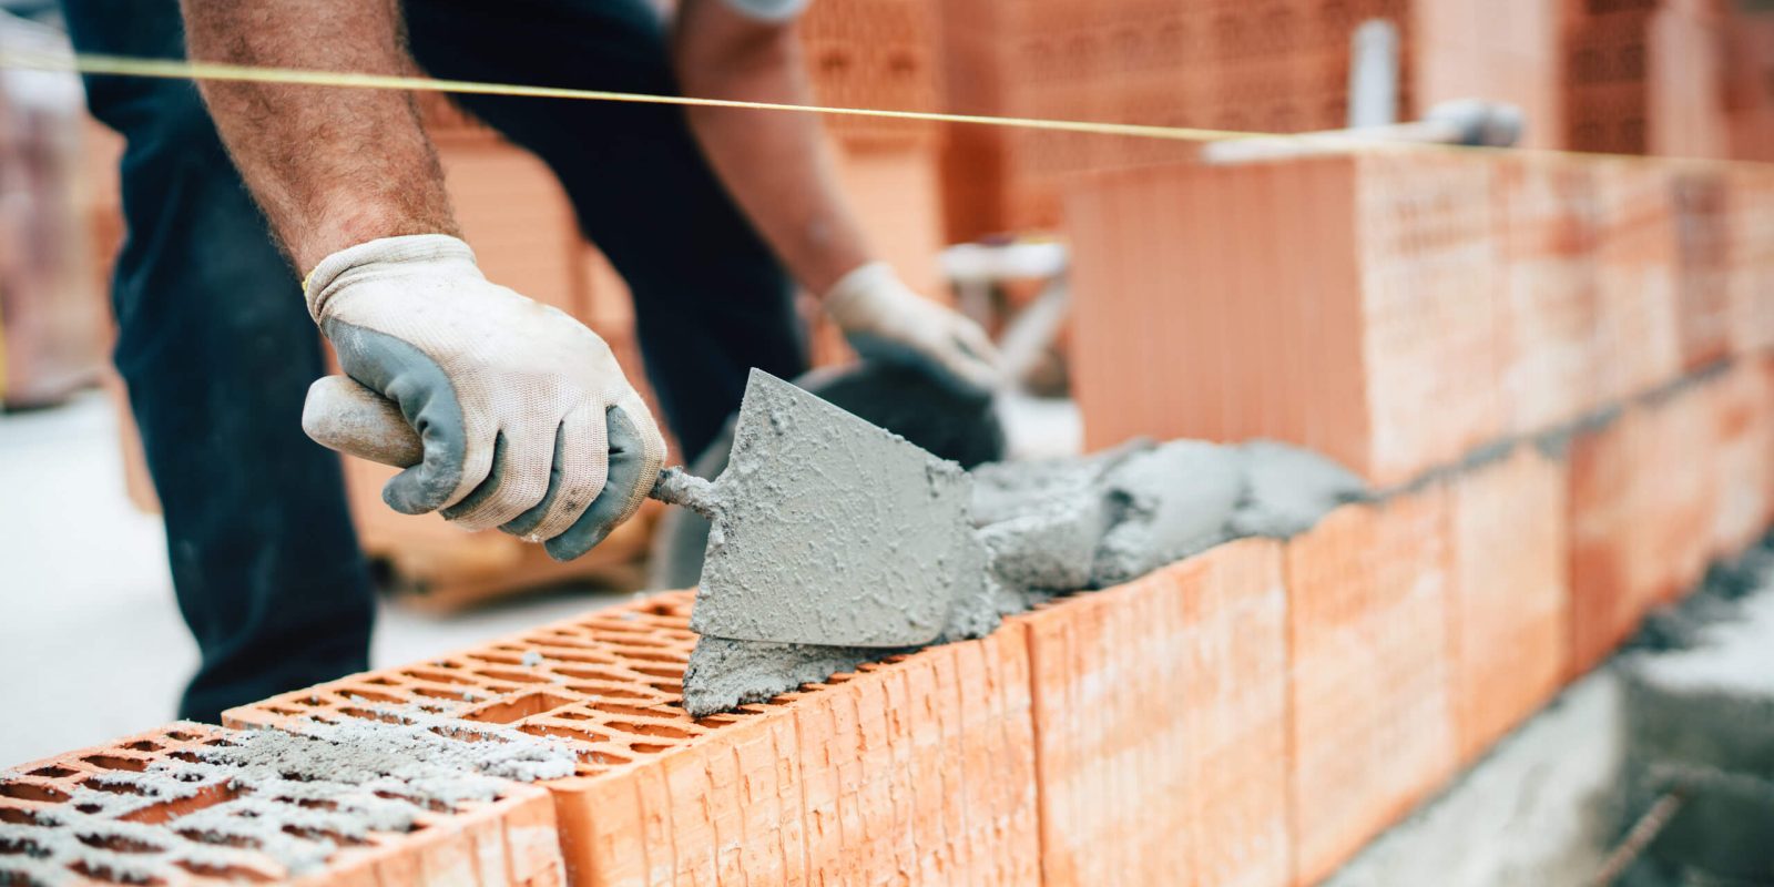
[[[839,279],[825,296],[825,312],[862,357],[915,364],[967,392],[997,387],[999,357],[986,332],[914,293],[887,263]]]

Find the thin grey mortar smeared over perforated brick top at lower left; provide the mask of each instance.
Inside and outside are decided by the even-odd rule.
[[[80,880],[71,866],[124,882],[179,882],[183,866],[263,871],[264,859],[300,876],[323,867],[339,841],[408,832],[422,811],[488,802],[511,781],[573,772],[575,754],[561,742],[413,706],[374,713],[385,720],[220,731],[224,745],[96,775],[98,788],[76,788],[32,821],[0,823],[0,846],[23,848],[0,855],[0,882]],[[236,797],[165,823],[124,820],[206,789]]]

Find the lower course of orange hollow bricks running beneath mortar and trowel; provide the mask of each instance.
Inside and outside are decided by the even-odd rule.
[[[1770,518],[1774,358],[1737,353],[1297,538],[729,715],[681,710],[694,594],[665,593],[227,722],[440,718],[562,742],[573,772],[532,791],[582,885],[1315,883]],[[172,729],[5,777],[0,823],[78,804],[69,784],[94,768],[232,736]],[[500,804],[349,846],[325,876],[431,871],[465,857],[426,841],[463,834],[506,828],[509,848]],[[0,871],[32,864],[14,832]]]

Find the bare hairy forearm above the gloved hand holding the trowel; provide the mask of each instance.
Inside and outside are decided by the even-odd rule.
[[[199,60],[410,73],[392,0],[183,0]],[[247,186],[300,271],[396,234],[454,234],[444,176],[404,92],[202,83]]]

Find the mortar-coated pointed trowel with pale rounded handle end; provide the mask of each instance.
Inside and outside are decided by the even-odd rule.
[[[339,452],[422,459],[399,408],[346,376],[309,389],[302,426]],[[970,479],[905,438],[754,369],[715,481],[665,468],[653,498],[713,522],[690,628],[733,640],[912,648],[983,593]]]

